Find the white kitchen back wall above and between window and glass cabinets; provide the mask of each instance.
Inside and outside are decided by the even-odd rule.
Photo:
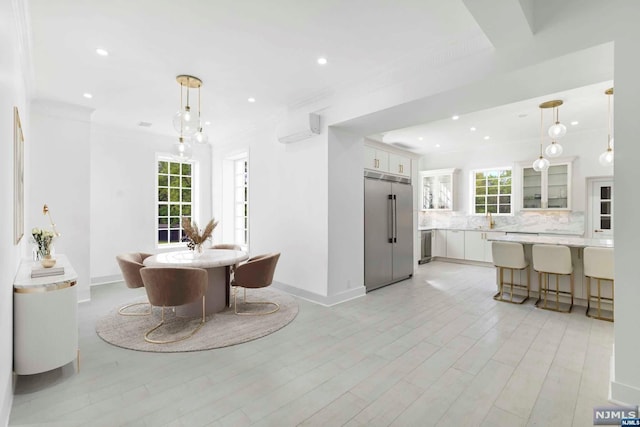
[[[604,98],[604,96],[603,96]],[[606,101],[606,100],[605,100]],[[443,141],[446,145],[446,141]],[[604,167],[598,157],[607,148],[607,129],[583,132],[579,127],[569,127],[567,135],[558,141],[564,149],[561,159],[575,158],[572,164],[572,210],[585,211],[585,184],[587,177],[612,176],[613,168]],[[548,145],[545,141],[543,147]],[[520,162],[527,167],[538,158],[540,140],[505,141],[482,144],[473,150],[430,153],[420,159],[420,170],[458,168],[455,188],[455,210],[471,214],[470,173],[474,169],[511,166],[514,173]],[[553,159],[550,159],[553,162]]]

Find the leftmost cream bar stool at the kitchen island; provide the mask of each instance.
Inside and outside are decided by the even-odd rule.
[[[522,304],[529,299],[529,263],[524,258],[524,246],[522,243],[512,242],[492,242],[491,254],[493,255],[493,264],[498,268],[499,277],[499,289],[498,293],[493,296],[496,301],[510,302],[513,304]],[[527,270],[527,284],[513,282],[514,270]],[[511,272],[511,282],[504,281],[504,270]],[[522,280],[520,280],[522,282]],[[511,287],[508,292],[509,297],[505,298],[504,286],[509,285]],[[523,289],[527,291],[527,295],[516,295],[514,299],[513,288]]]

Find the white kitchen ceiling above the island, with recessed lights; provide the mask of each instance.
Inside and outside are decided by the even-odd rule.
[[[370,135],[369,138],[416,153],[455,152],[478,146],[540,139],[541,109],[545,101],[561,100],[560,122],[569,132],[607,128],[607,95],[612,81],[539,96],[512,104],[476,111],[453,120],[455,111],[444,120]],[[613,106],[613,103],[612,103]],[[613,108],[613,107],[612,107]],[[547,129],[553,124],[551,109],[543,111],[544,145],[550,142]],[[572,122],[577,122],[571,124]],[[475,130],[471,130],[471,128]],[[488,139],[485,139],[486,137]]]

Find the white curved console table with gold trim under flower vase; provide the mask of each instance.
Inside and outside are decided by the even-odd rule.
[[[78,275],[64,255],[64,274],[31,278],[39,261],[22,261],[13,283],[13,369],[31,375],[78,357]]]

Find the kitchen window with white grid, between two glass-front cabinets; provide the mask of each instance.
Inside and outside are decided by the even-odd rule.
[[[511,214],[513,212],[511,168],[482,169],[471,173],[474,179],[474,214]]]

